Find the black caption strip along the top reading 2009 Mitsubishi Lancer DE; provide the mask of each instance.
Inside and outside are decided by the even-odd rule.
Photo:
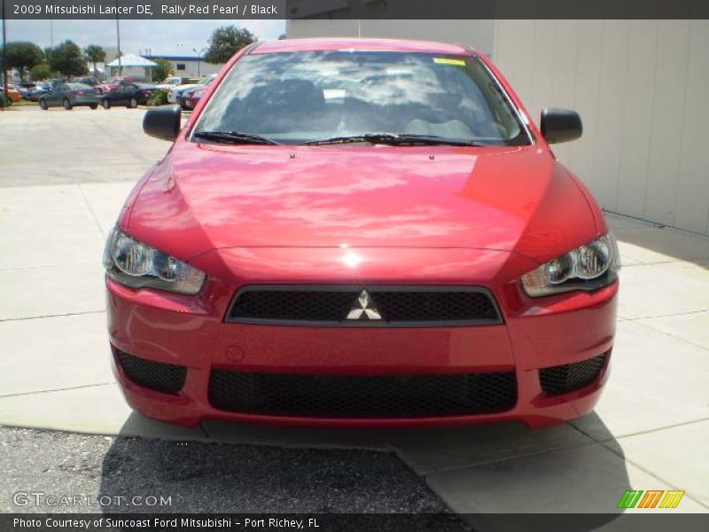
[[[4,18],[709,19],[707,0],[0,0]]]

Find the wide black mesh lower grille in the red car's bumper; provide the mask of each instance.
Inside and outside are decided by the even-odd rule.
[[[514,372],[409,376],[321,376],[214,370],[214,408],[308,418],[423,418],[507,411]]]

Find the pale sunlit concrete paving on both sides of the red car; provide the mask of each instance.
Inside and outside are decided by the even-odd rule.
[[[631,487],[683,489],[677,511],[709,512],[709,239],[620,216],[609,215],[625,263],[612,378],[585,419],[536,431],[186,429],[131,413],[107,364],[100,257],[132,183],[168,148],[143,135],[142,113],[0,113],[12,131],[0,137],[0,425],[226,442],[245,453],[256,444],[261,459],[278,456],[271,447],[362,450],[328,457],[362,474],[388,474],[375,465],[393,453],[416,473],[398,481],[418,489],[421,479],[464,513],[613,512]],[[331,481],[320,489],[326,497]]]

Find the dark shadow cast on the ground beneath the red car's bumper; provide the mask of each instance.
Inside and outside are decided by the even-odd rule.
[[[569,425],[529,430],[516,423],[350,430],[206,422],[201,428],[184,439],[183,429],[132,414],[121,431],[126,437],[105,455],[100,497],[171,498],[151,512],[452,509],[473,528],[505,523],[506,512],[594,513],[574,522],[580,532],[618,517],[619,499],[631,489],[622,450],[607,430],[591,440]],[[133,436],[146,432],[156,437]],[[123,502],[103,510],[146,508]],[[526,529],[536,521],[549,524],[536,516]]]

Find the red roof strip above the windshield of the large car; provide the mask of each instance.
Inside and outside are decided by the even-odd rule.
[[[284,39],[258,43],[250,51],[252,54],[282,51],[418,51],[445,55],[469,56],[473,50],[463,44],[434,43],[432,41],[413,41],[409,39],[357,39],[357,38],[316,38]]]

